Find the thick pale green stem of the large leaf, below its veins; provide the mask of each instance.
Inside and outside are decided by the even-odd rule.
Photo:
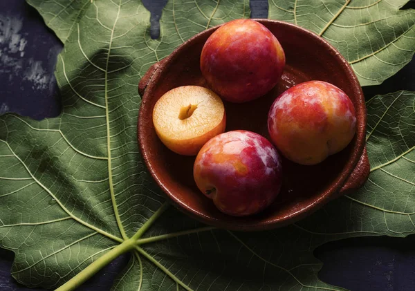
[[[109,252],[106,252],[102,256],[100,256],[96,261],[91,263],[91,265],[88,265],[84,270],[76,274],[71,280],[64,283],[64,285],[57,288],[55,291],[71,291],[75,290],[75,288],[79,287],[84,283],[86,280],[91,278],[94,274],[96,274],[99,270],[101,270],[103,267],[111,263],[114,259],[116,259],[121,254],[124,254],[126,252],[129,252],[130,250],[133,250],[135,247],[135,241],[129,239],[127,241],[124,241],[120,245],[117,245]]]

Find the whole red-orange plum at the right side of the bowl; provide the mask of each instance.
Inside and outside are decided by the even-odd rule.
[[[284,91],[268,113],[270,138],[283,156],[315,165],[342,151],[356,133],[356,111],[340,88],[309,81]]]

